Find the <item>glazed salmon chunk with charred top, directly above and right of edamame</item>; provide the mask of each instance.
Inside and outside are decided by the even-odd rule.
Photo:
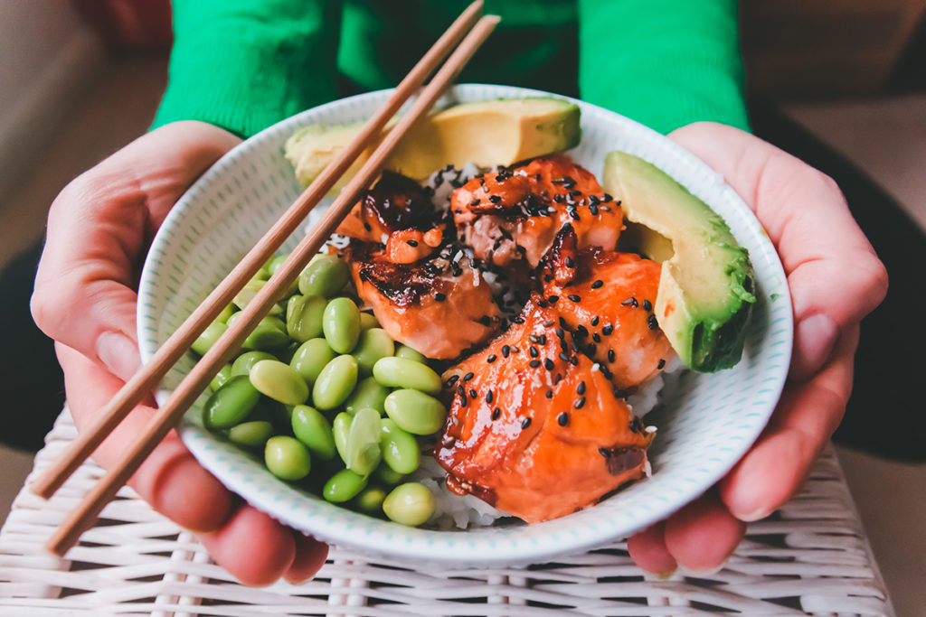
[[[456,358],[489,339],[500,313],[482,271],[455,247],[429,260],[394,263],[352,242],[347,263],[357,293],[394,340],[429,358]],[[461,255],[454,261],[455,255]]]

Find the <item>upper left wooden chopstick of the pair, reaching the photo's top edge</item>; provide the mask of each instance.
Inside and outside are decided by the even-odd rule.
[[[460,14],[431,49],[421,57],[418,64],[395,88],[395,92],[382,108],[370,117],[357,137],[348,144],[344,152],[326,166],[318,178],[312,181],[306,191],[296,199],[283,216],[257,242],[232,272],[219,283],[193,314],[187,317],[181,327],[155,352],[151,359],[119,389],[116,396],[94,417],[94,421],[81,431],[48,469],[30,485],[31,491],[44,499],[50,498],[81,466],[109,433],[141,402],[156,389],[157,384],[193,345],[194,340],[219,316],[222,309],[257,274],[267,260],[276,253],[282,242],[293,235],[299,224],[316,204],[332,190],[335,182],[353,164],[357,156],[377,138],[386,123],[395,115],[407,99],[424,80],[454,49],[463,36],[472,29],[482,16],[482,0],[476,0]],[[394,132],[394,131],[393,131]]]

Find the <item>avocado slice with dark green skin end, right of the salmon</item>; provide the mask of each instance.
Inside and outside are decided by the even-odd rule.
[[[602,186],[621,201],[637,246],[665,259],[654,312],[682,362],[703,373],[738,363],[755,275],[723,218],[632,154],[607,154]]]

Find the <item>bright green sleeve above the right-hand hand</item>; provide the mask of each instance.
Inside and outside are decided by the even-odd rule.
[[[736,0],[578,0],[582,99],[661,132],[749,130]]]

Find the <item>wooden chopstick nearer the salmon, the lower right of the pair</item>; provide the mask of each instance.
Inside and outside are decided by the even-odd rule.
[[[219,371],[219,367],[232,359],[257,322],[269,312],[270,307],[282,297],[285,290],[306,267],[311,258],[319,252],[338,224],[366,191],[369,183],[382,171],[386,158],[392,153],[399,140],[412,125],[424,116],[457,78],[459,71],[469,62],[480,45],[498,23],[496,16],[480,19],[463,42],[450,55],[431,82],[419,94],[407,113],[401,117],[382,143],[369,156],[357,175],[348,182],[335,199],[319,224],[295,248],[293,253],[279,266],[266,285],[248,302],[232,326],[219,338],[213,347],[196,363],[193,370],[183,378],[177,389],[171,392],[167,401],[156,412],[145,427],[144,434],[132,445],[119,463],[91,488],[78,506],[69,513],[49,538],[45,548],[57,555],[63,555],[80,538],[81,533],[91,527],[99,512],[116,496],[144,459],[155,449],[169,430],[177,424],[182,414],[189,409],[206,385]]]

